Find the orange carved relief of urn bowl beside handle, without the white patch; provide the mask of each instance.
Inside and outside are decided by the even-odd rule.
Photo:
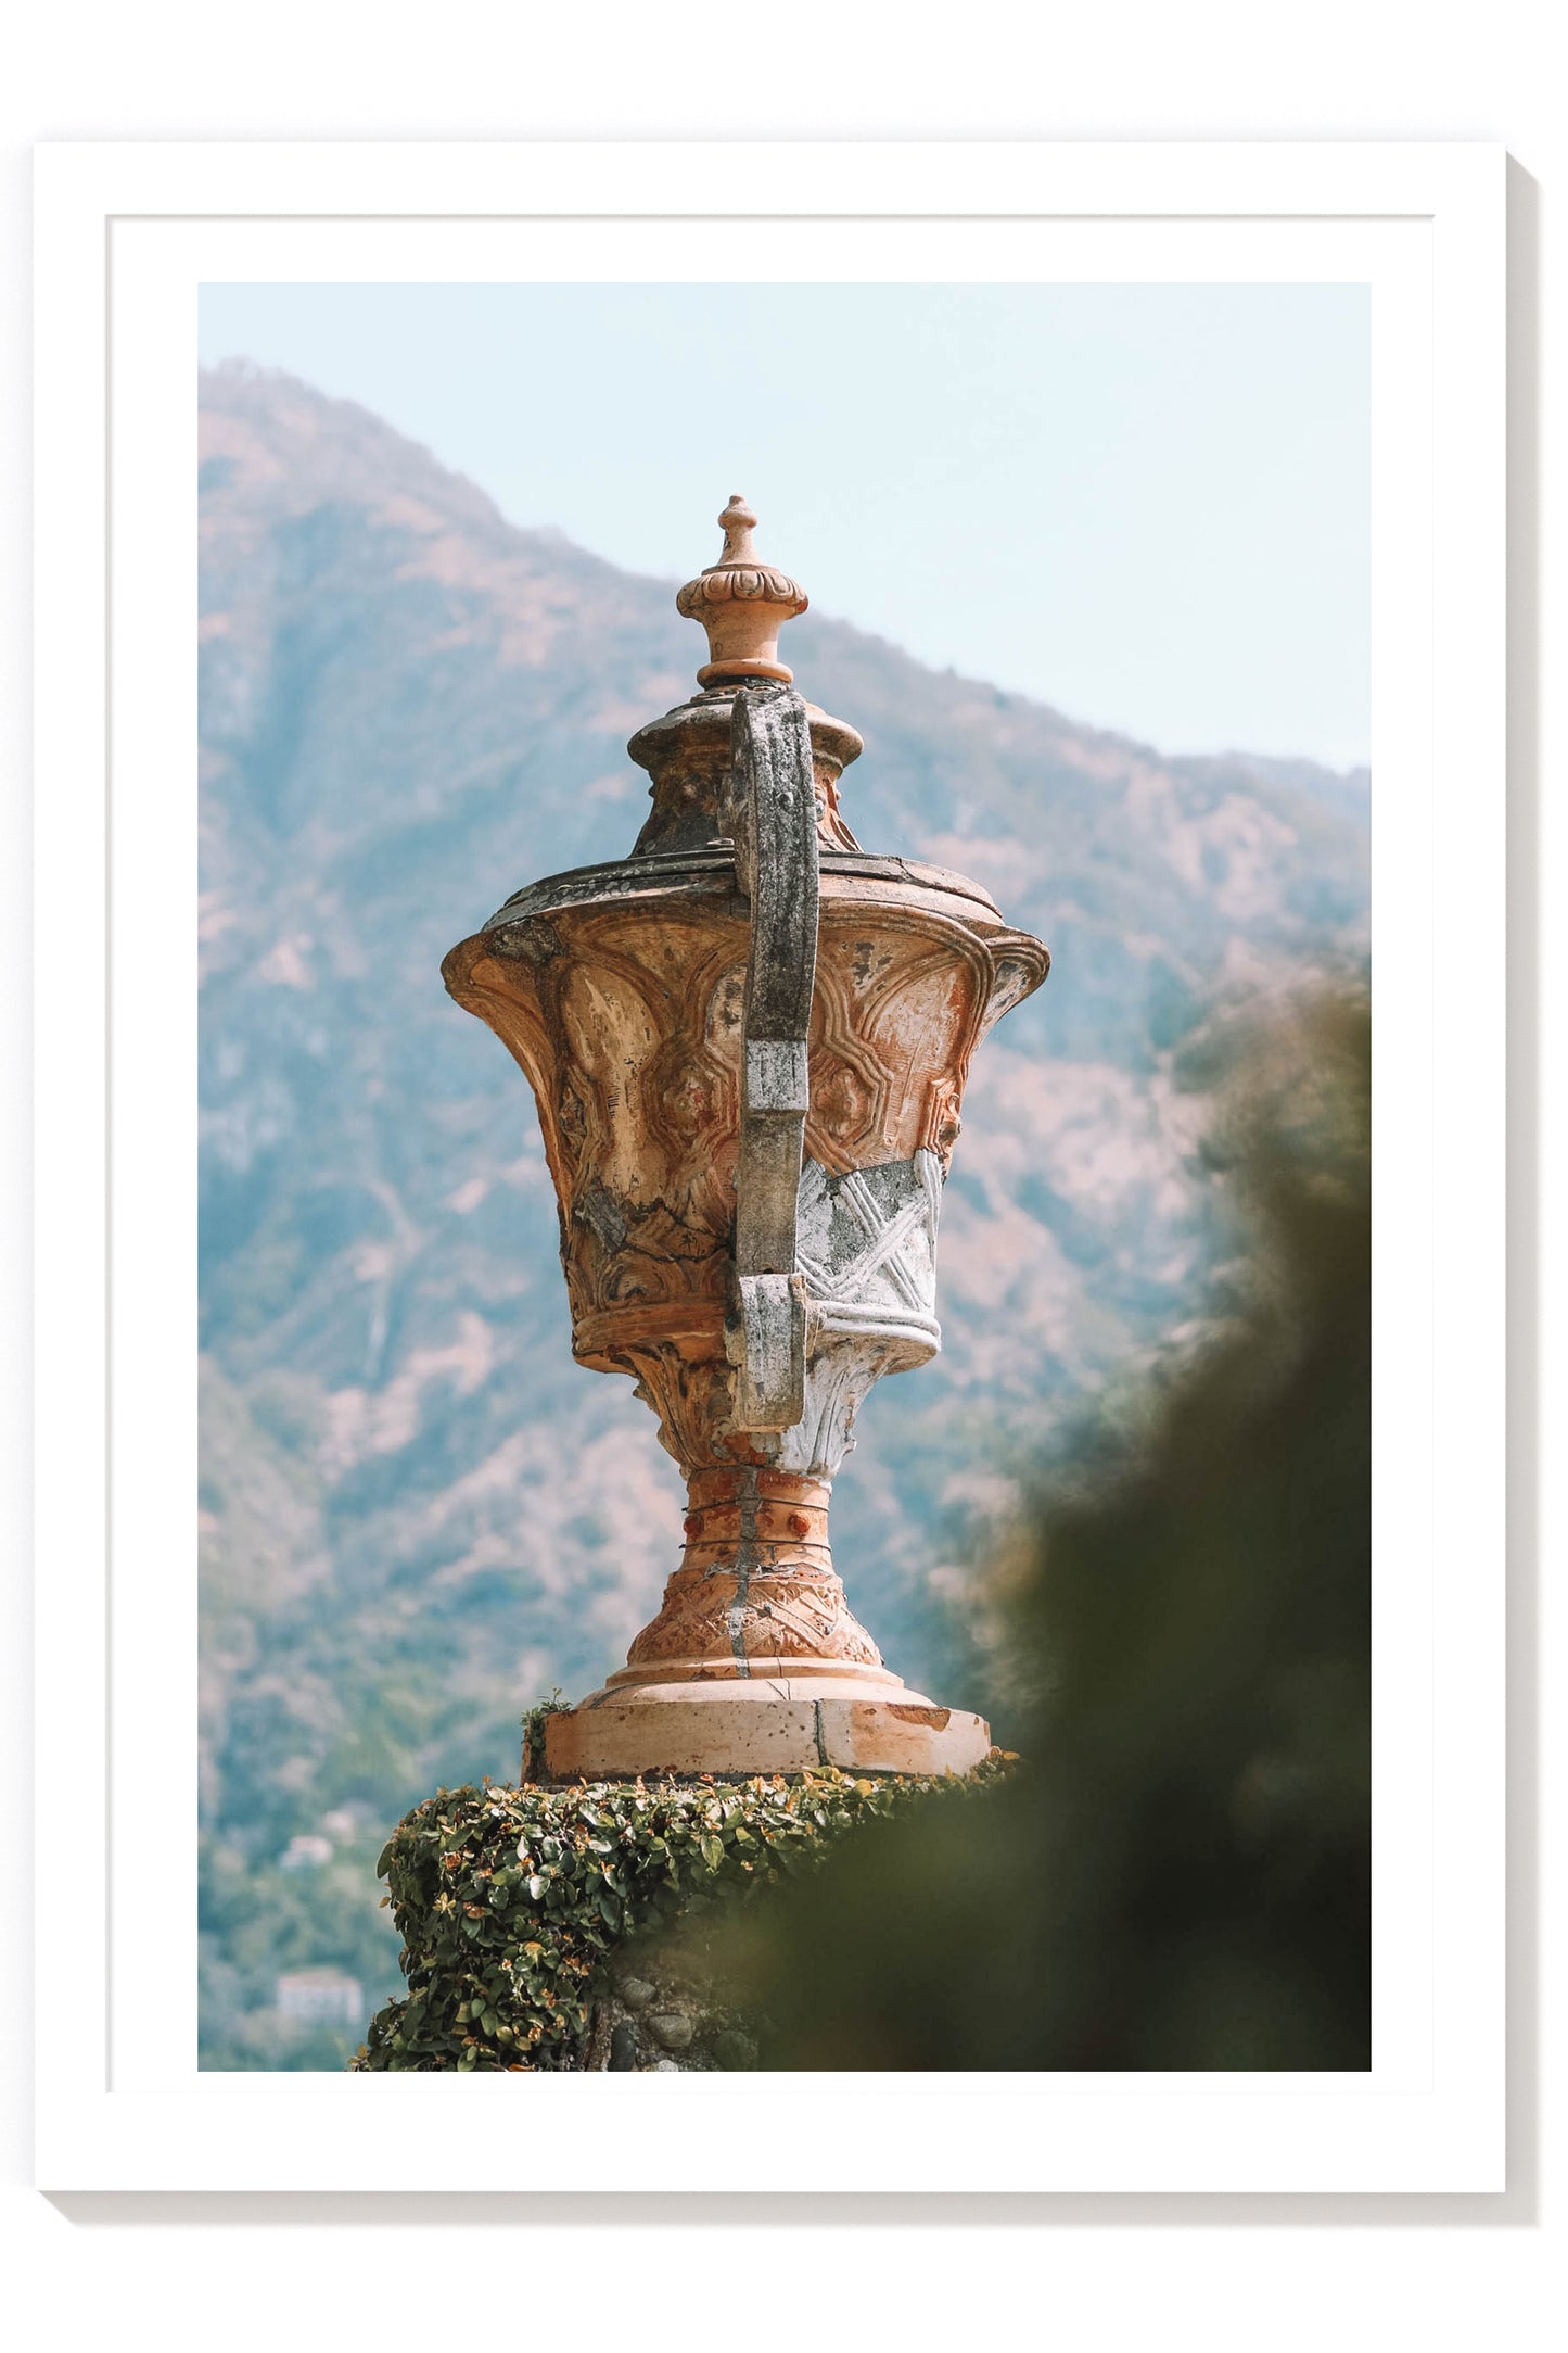
[[[541,936],[543,934],[543,936]],[[936,1155],[959,1129],[971,1054],[1027,986],[1032,941],[997,946],[907,908],[823,901],[806,1158],[827,1176]],[[1039,951],[1034,951],[1039,955]],[[569,906],[463,941],[449,986],[522,1064],[562,1214],[578,1353],[616,1311],[726,1306],[741,1120],[745,908]],[[849,1212],[844,1212],[849,1214]]]

